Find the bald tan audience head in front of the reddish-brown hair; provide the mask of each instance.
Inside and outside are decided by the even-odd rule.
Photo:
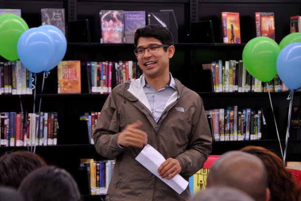
[[[249,194],[255,201],[268,201],[268,177],[265,165],[256,156],[229,151],[212,165],[207,186],[229,186]]]

